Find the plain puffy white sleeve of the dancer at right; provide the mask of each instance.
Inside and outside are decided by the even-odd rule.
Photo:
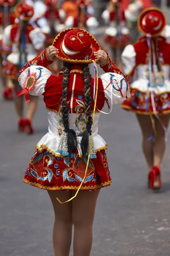
[[[130,75],[133,69],[136,66],[136,52],[135,48],[132,44],[129,44],[125,47],[124,51],[122,52],[122,63],[123,63],[123,71],[126,75]]]

